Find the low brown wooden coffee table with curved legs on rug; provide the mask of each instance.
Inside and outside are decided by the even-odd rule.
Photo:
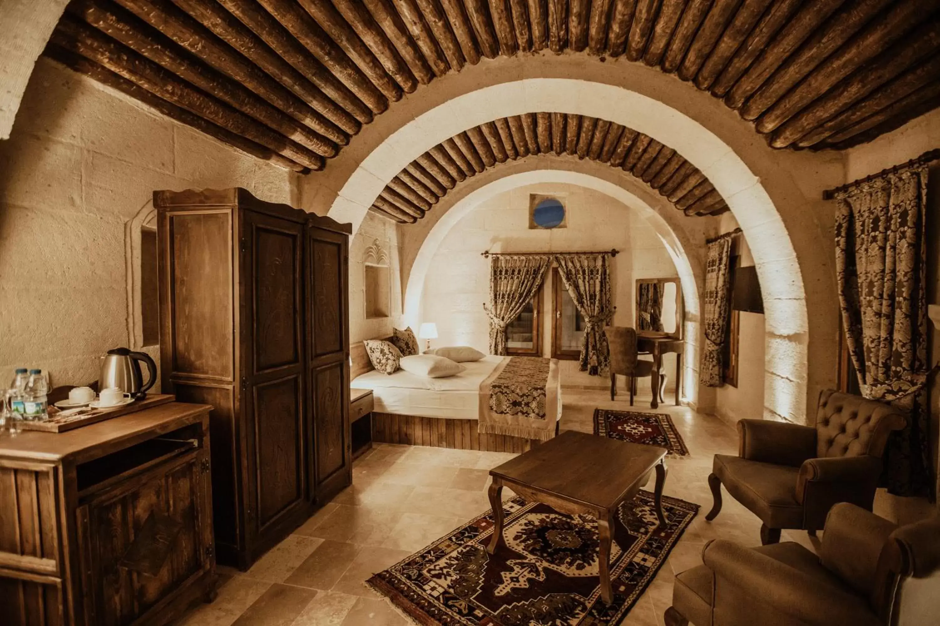
[[[529,502],[542,502],[556,511],[597,517],[600,535],[599,569],[601,597],[613,599],[610,586],[610,549],[617,509],[636,495],[656,470],[656,516],[663,514],[663,484],[666,482],[666,450],[597,435],[567,431],[501,466],[490,476],[490,504],[496,526],[486,551],[491,555],[503,539],[503,486],[509,486]]]

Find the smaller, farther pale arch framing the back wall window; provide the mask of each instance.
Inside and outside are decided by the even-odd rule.
[[[451,206],[431,227],[431,231],[428,233],[427,237],[424,238],[424,241],[421,243],[421,248],[415,256],[415,262],[411,267],[407,286],[405,287],[404,323],[416,328],[421,321],[424,284],[428,272],[431,269],[434,254],[439,250],[447,234],[458,222],[479,205],[487,202],[494,196],[517,187],[535,183],[567,183],[599,191],[619,201],[621,204],[634,209],[650,224],[656,236],[662,241],[663,245],[666,247],[666,251],[672,258],[672,262],[676,266],[676,271],[679,274],[680,283],[682,285],[682,305],[685,309],[685,328],[683,329],[683,336],[686,339],[686,350],[684,353],[684,363],[682,365],[682,380],[684,383],[682,398],[696,403],[697,386],[689,384],[697,374],[697,344],[699,332],[698,287],[692,265],[689,263],[689,259],[678,237],[676,237],[675,233],[655,209],[634,193],[597,176],[569,170],[531,170],[493,180],[493,182],[471,191],[455,205]]]

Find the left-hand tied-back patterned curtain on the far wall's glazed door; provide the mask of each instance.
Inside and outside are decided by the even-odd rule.
[[[552,257],[493,256],[490,264],[490,353],[506,354],[506,327],[539,291]]]

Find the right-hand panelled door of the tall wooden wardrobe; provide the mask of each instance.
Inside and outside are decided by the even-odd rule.
[[[311,218],[312,220],[315,218]],[[307,228],[307,354],[318,502],[352,481],[349,425],[349,237]]]

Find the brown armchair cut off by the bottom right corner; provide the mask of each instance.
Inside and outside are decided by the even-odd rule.
[[[846,502],[819,556],[714,540],[676,575],[666,626],[895,626],[940,621],[940,517],[896,527]]]

